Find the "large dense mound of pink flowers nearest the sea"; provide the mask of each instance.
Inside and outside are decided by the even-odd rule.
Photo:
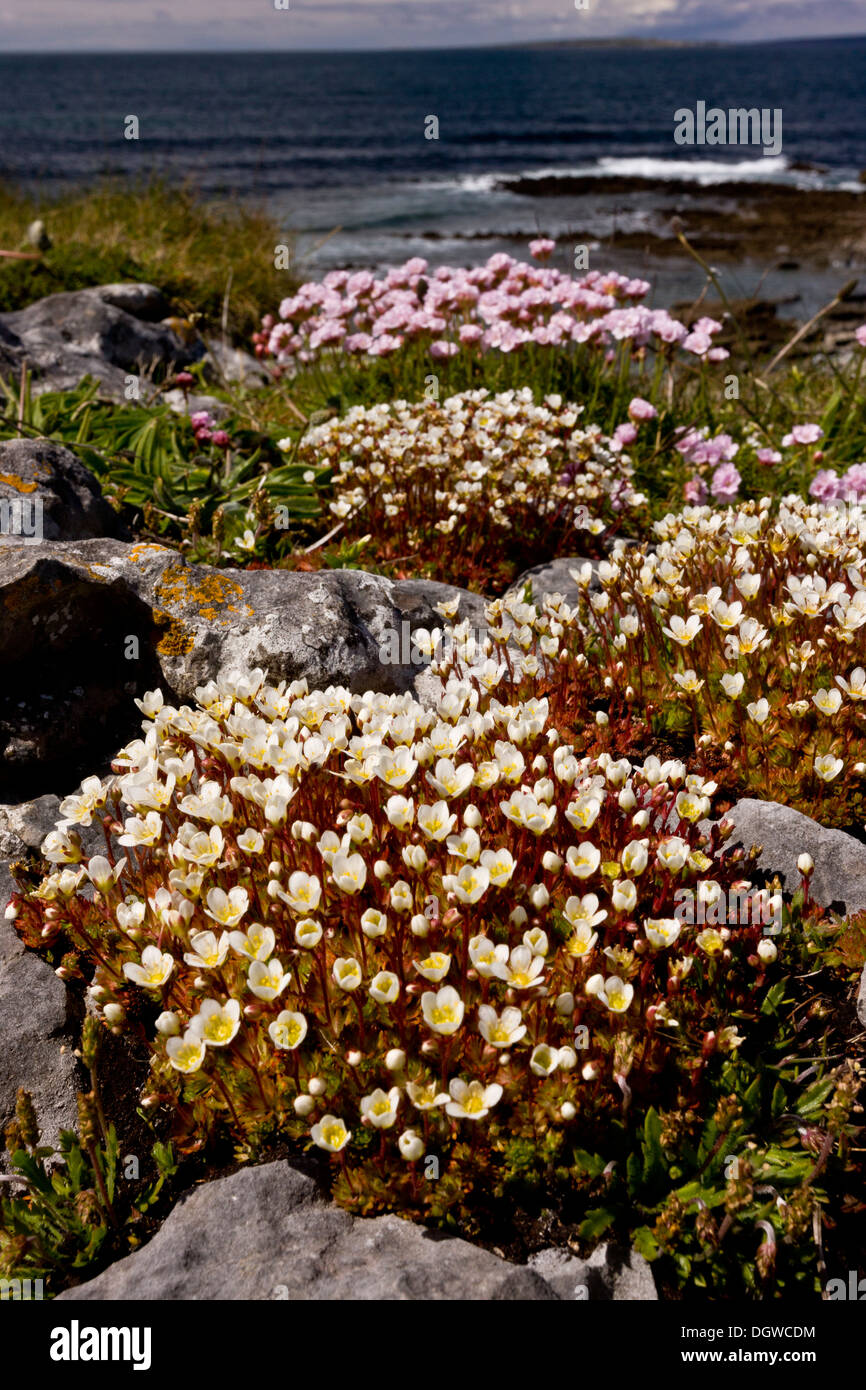
[[[546,259],[555,243],[539,239],[530,250]],[[321,282],[302,285],[267,314],[254,334],[256,354],[279,366],[313,361],[328,349],[384,357],[405,343],[430,339],[434,359],[461,350],[514,352],[530,343],[564,346],[592,342],[601,348],[630,342],[680,345],[720,361],[713,348],[721,324],[701,318],[691,332],[664,309],[638,303],[645,279],[588,271],[581,279],[550,265],[517,261],[503,252],[485,265],[430,270],[421,257],[392,267],[381,279],[370,271],[329,271]]]

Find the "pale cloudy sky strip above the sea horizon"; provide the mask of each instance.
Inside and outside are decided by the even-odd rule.
[[[866,0],[0,0],[0,53],[866,33]]]

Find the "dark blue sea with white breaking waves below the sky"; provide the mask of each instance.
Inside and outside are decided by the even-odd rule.
[[[783,153],[677,146],[674,111],[699,100],[781,108]],[[787,182],[866,192],[865,103],[866,38],[0,54],[0,179],[53,190],[161,172],[210,196],[265,202],[296,235],[310,272],[414,254],[467,264],[539,232],[659,235],[671,188]],[[128,115],[138,117],[138,140],[124,138]],[[425,139],[431,115],[438,139]],[[649,268],[667,291],[676,285],[666,277],[681,274],[627,268]],[[815,281],[819,299],[826,278]]]

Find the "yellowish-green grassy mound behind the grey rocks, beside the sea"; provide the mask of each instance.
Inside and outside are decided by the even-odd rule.
[[[32,252],[26,229],[36,218],[53,243],[38,260],[0,259],[0,313],[43,295],[139,279],[202,314],[200,327],[211,332],[228,295],[228,332],[249,338],[261,306],[292,289],[289,272],[274,267],[286,235],[263,207],[204,202],[158,179],[103,182],[54,199],[8,186],[0,195],[1,250]]]

